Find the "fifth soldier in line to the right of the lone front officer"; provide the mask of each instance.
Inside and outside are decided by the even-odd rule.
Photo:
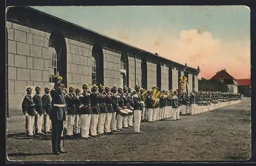
[[[106,104],[105,104],[105,88],[100,85],[99,86],[99,108],[100,108],[100,114],[99,114],[99,121],[97,125],[98,129],[98,135],[104,135],[104,124],[106,119]]]

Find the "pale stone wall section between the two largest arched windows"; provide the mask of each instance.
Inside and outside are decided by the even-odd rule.
[[[81,88],[82,84],[92,84],[93,46],[65,38],[67,44],[67,86]]]

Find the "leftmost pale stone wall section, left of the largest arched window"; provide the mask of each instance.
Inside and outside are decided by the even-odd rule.
[[[27,86],[52,87],[49,81],[49,34],[7,21],[9,109],[22,109]],[[33,94],[35,91],[33,91]]]

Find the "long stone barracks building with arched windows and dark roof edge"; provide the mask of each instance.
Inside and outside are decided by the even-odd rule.
[[[9,7],[6,14],[9,111],[22,109],[27,86],[40,86],[42,94],[52,88],[57,72],[67,87],[95,83],[178,89],[183,64],[30,7]],[[189,89],[198,90],[199,67],[187,70]]]

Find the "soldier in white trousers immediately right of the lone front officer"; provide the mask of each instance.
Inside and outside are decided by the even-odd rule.
[[[75,125],[75,115],[77,114],[77,108],[75,106],[75,93],[74,88],[69,87],[69,94],[67,98],[67,114],[68,114],[68,123],[67,123],[67,135],[68,138],[73,138],[73,129]]]

